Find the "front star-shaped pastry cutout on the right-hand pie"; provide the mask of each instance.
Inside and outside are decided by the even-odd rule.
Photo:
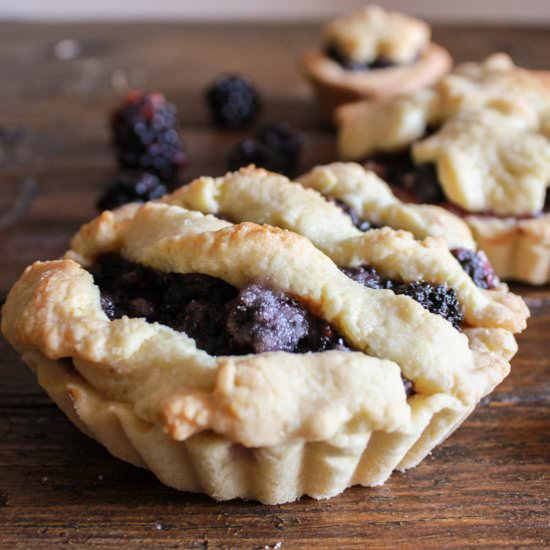
[[[471,212],[538,213],[550,184],[550,141],[522,117],[469,109],[413,146],[433,162],[447,198]]]

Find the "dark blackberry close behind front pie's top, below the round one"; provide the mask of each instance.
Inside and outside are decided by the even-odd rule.
[[[255,164],[291,177],[298,168],[302,143],[302,135],[284,122],[263,126],[229,152],[228,169]]]

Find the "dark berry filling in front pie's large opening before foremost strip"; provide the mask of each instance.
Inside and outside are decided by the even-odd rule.
[[[211,355],[347,350],[325,321],[282,292],[250,285],[240,292],[198,273],[163,273],[116,254],[90,268],[110,319],[145,317],[185,332]]]

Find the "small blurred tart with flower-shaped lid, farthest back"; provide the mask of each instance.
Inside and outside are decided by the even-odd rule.
[[[323,30],[322,50],[306,52],[304,73],[315,88],[322,115],[362,98],[388,97],[430,86],[451,67],[441,46],[430,42],[423,21],[378,6],[335,19]]]

